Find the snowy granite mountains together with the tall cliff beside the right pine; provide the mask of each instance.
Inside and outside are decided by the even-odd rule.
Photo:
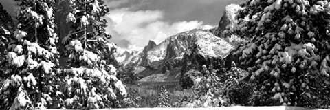
[[[121,51],[116,58],[123,68],[133,70],[140,81],[149,82],[186,80],[183,78],[192,72],[201,71],[202,65],[223,69],[223,59],[236,45],[232,45],[222,31],[238,22],[234,17],[240,9],[239,5],[228,5],[219,28],[203,26],[170,36],[159,44],[149,41],[144,49]]]

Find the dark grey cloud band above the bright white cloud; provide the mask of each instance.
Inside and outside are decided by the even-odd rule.
[[[245,0],[148,0],[138,10],[162,10],[169,22],[198,20],[218,25],[225,6],[241,1]]]

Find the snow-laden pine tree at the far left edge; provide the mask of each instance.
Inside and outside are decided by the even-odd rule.
[[[61,81],[56,77],[58,52],[54,1],[15,0],[19,25],[8,45],[8,77],[0,88],[1,109],[58,106]]]

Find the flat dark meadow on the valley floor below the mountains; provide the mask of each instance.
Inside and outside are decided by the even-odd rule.
[[[140,101],[137,102],[140,107],[157,107],[159,89],[163,86],[168,91],[168,104],[172,107],[180,107],[181,102],[194,96],[192,89],[182,89],[179,82],[141,82],[140,85],[126,85],[126,89],[133,97],[140,96]]]

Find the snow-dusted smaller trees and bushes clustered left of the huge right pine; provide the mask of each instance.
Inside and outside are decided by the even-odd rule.
[[[181,107],[222,107],[231,105],[230,98],[225,96],[225,80],[227,79],[225,78],[227,76],[223,75],[225,73],[217,73],[212,65],[209,68],[203,65],[202,68],[199,83],[195,83],[192,87],[195,96],[182,102]]]

